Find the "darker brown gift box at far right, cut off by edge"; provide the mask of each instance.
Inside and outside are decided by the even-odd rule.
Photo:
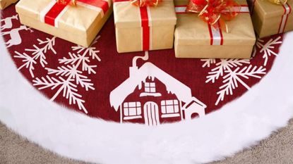
[[[293,0],[251,0],[252,21],[259,37],[293,30]],[[275,4],[274,4],[275,3]]]

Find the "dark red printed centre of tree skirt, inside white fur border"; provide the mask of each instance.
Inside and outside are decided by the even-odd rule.
[[[147,125],[216,111],[270,71],[282,44],[282,35],[259,39],[251,60],[178,59],[173,49],[119,54],[113,17],[88,49],[21,25],[14,6],[2,17],[11,58],[48,99],[94,118]]]

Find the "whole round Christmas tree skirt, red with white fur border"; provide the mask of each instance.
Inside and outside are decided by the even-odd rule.
[[[11,6],[1,34],[0,120],[69,158],[207,163],[293,114],[292,33],[258,39],[250,60],[119,54],[112,17],[86,49],[21,25]]]

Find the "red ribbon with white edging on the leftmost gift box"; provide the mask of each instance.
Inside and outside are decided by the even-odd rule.
[[[55,0],[52,0],[55,1]],[[95,8],[101,8],[104,13],[109,10],[109,3],[103,0],[77,0],[77,3],[83,3]],[[64,12],[64,9],[71,4],[70,0],[65,0],[64,3],[57,3],[55,1],[54,5],[49,8],[49,11],[44,15],[44,23],[56,27],[56,18]],[[74,6],[73,6],[74,7]]]

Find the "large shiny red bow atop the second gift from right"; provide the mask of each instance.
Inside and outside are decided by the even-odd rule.
[[[226,21],[234,19],[241,6],[234,0],[190,0],[186,11],[199,13],[199,17],[215,28],[229,32]]]

